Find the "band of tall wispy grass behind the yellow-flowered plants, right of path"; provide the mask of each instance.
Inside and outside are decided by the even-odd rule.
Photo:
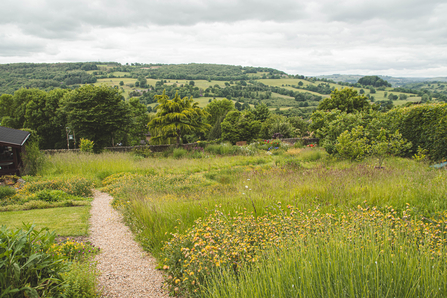
[[[358,205],[402,211],[409,204],[415,215],[436,216],[447,209],[446,174],[401,159],[390,161],[385,170],[343,162],[311,169],[261,165],[117,177],[105,190],[125,202],[129,223],[146,248],[158,255],[176,227],[185,231],[216,205],[226,214],[248,210],[262,216],[265,207],[277,201],[301,210],[319,206],[325,212]]]

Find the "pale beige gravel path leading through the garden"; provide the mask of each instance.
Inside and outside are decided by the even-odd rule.
[[[134,241],[122,216],[110,206],[112,197],[95,191],[90,241],[101,248],[96,256],[103,297],[168,297],[155,260]]]

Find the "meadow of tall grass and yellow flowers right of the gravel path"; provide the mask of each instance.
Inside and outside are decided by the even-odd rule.
[[[447,171],[394,157],[385,161],[384,169],[376,169],[374,159],[339,161],[321,148],[293,148],[277,156],[265,152],[216,156],[221,152],[213,148],[205,150],[206,157],[200,159],[185,158],[184,152],[176,159],[109,152],[56,154],[47,157],[40,174],[83,175],[102,185],[114,197],[114,207],[123,212],[136,238],[170,274],[173,293],[206,297],[247,297],[248,293],[253,293],[250,297],[445,295],[446,232],[442,229]],[[286,208],[281,206],[314,215],[309,215],[312,220],[308,222],[286,225]],[[386,225],[380,221],[361,225],[357,222],[361,213],[353,213],[359,206],[366,215],[373,210],[394,220],[379,216]],[[213,210],[228,223],[217,220]],[[354,238],[346,234],[351,230],[336,226],[320,234],[312,229],[298,233],[301,226],[326,228],[319,221],[326,217],[355,227],[350,234]],[[439,223],[440,219],[444,222]],[[402,223],[402,229],[396,229],[395,222]],[[430,239],[440,239],[436,241],[443,243],[444,250],[429,255],[433,250],[411,242],[422,238],[414,237],[406,224],[423,227],[418,230],[421,236],[427,236],[426,227],[430,237],[434,235]],[[227,235],[220,233],[222,227],[232,232],[222,237]],[[275,237],[289,233],[286,227],[292,234],[285,239],[295,240],[282,241],[279,246]],[[395,231],[398,233],[393,234]],[[300,242],[302,239],[292,237],[295,234],[309,237]],[[391,234],[392,241],[386,240]],[[257,241],[275,249],[260,246],[256,254],[247,254]],[[212,271],[206,279],[192,278],[199,275],[200,271],[194,271],[198,267],[186,271],[192,267],[178,261],[191,260],[195,243],[203,246],[204,250],[196,251],[202,253],[200,258],[208,258],[207,270]],[[237,253],[240,258],[224,267],[215,258],[221,253]],[[248,257],[253,265],[239,267]],[[281,261],[275,261],[278,259]]]

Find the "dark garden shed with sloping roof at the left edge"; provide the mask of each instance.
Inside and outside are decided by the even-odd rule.
[[[0,176],[19,175],[27,131],[0,126]]]

